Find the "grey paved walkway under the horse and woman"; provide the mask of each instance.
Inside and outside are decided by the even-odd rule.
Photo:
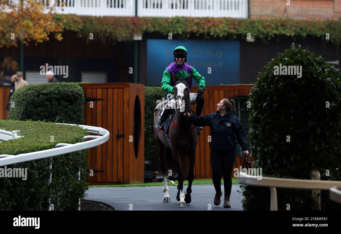
[[[170,202],[163,203],[162,186],[152,187],[101,187],[89,188],[88,194],[84,199],[104,202],[115,210],[208,210],[211,204],[212,210],[243,210],[242,199],[244,198],[240,191],[239,184],[232,184],[231,208],[223,208],[224,194],[221,197],[219,206],[213,204],[213,198],[216,194],[213,184],[194,184],[192,185],[192,202],[186,204],[186,208],[178,208],[176,201],[176,186],[168,186]],[[187,185],[184,186],[186,191]],[[222,185],[223,190],[223,185]],[[224,193],[224,192],[223,192]]]

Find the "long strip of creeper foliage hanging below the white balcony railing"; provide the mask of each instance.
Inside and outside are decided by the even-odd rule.
[[[204,39],[222,40],[245,39],[247,33],[264,41],[272,38],[292,37],[294,39],[320,37],[322,41],[341,43],[341,19],[339,20],[296,20],[289,18],[236,19],[210,17],[92,17],[73,14],[56,15],[63,30],[75,31],[88,42],[93,33],[94,40],[115,43],[134,33],[164,35],[172,33],[173,39],[187,39],[191,35]],[[329,33],[329,40],[326,40]]]

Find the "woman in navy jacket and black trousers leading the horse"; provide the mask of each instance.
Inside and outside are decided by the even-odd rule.
[[[220,205],[221,177],[224,179],[224,208],[231,208],[230,196],[232,190],[232,170],[236,160],[236,139],[243,150],[244,156],[249,155],[248,141],[244,134],[240,120],[235,116],[236,108],[233,99],[222,99],[217,104],[215,113],[196,116],[190,113],[183,114],[189,122],[197,126],[210,126],[211,132],[211,167],[212,181],[216,195],[214,205]]]

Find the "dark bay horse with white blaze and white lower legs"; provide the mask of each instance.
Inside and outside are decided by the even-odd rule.
[[[194,180],[194,163],[195,163],[195,151],[198,143],[198,133],[196,127],[189,122],[189,119],[184,116],[184,113],[191,113],[191,102],[189,96],[188,82],[191,78],[191,74],[185,79],[179,79],[173,73],[174,85],[174,98],[175,112],[172,117],[172,123],[169,126],[169,142],[171,149],[168,148],[169,144],[165,137],[165,134],[154,128],[154,135],[156,144],[158,147],[158,155],[161,161],[161,170],[163,173],[163,192],[164,197],[162,202],[170,202],[168,194],[168,186],[166,179],[167,167],[174,165],[178,172],[178,193],[176,196],[179,201],[178,207],[186,207],[186,203],[189,204],[192,201],[192,182]],[[184,104],[183,104],[184,102]],[[158,106],[157,106],[158,107]],[[155,108],[156,109],[156,108]],[[154,126],[158,122],[159,114],[162,109],[158,109],[154,112]],[[182,171],[182,161],[185,156],[188,156],[189,172],[188,172],[188,187],[186,195],[183,192],[183,180],[184,173]]]

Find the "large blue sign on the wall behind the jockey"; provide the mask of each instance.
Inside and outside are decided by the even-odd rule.
[[[161,86],[163,70],[174,62],[174,49],[188,51],[187,64],[203,77],[206,85],[239,84],[239,41],[147,39],[147,86]],[[193,85],[198,85],[193,80]]]

